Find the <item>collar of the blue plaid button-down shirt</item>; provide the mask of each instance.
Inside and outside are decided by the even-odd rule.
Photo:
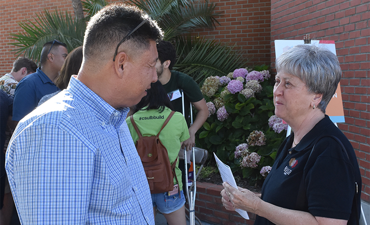
[[[70,78],[69,84],[66,88],[74,98],[80,98],[80,100],[89,107],[89,109],[99,120],[102,121],[103,124],[108,124],[110,121],[113,125],[116,125],[122,121],[122,117],[124,121],[129,111],[128,107],[113,108],[76,77],[76,75],[73,75]]]

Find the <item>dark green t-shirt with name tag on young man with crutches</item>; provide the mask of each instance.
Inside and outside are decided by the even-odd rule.
[[[171,70],[171,78],[169,81],[163,85],[167,93],[176,90],[182,89],[184,92],[184,105],[185,105],[185,118],[189,123],[189,108],[190,102],[197,102],[203,99],[203,94],[200,91],[198,84],[194,79],[186,75],[185,73]],[[171,101],[175,111],[182,113],[182,100],[181,97],[176,98]]]

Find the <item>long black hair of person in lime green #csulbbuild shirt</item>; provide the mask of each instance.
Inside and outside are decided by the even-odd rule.
[[[159,112],[162,112],[164,107],[173,110],[171,101],[159,80],[151,83],[150,89],[146,90],[146,92],[147,94],[135,105],[135,112],[146,109],[158,109]]]

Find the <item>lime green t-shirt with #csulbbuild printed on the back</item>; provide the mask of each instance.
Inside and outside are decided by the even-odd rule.
[[[171,109],[165,108],[164,111],[159,113],[156,109],[139,110],[133,114],[137,128],[140,130],[142,136],[156,135],[160,127],[162,127],[164,120],[168,117]],[[126,118],[127,126],[130,130],[133,142],[136,143],[138,135],[133,127],[130,118]],[[168,152],[168,158],[172,164],[177,157],[180,150],[180,142],[190,137],[189,130],[187,129],[186,121],[181,113],[175,112],[171,119],[162,131],[160,131],[159,139],[165,146]],[[181,180],[181,170],[178,168],[178,160],[175,167],[177,179]],[[176,179],[173,178],[173,183],[176,184]],[[182,182],[178,183],[180,190],[182,190]]]

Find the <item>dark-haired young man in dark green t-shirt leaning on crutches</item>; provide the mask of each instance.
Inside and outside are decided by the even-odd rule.
[[[162,83],[165,91],[169,96],[171,96],[171,103],[175,111],[182,113],[182,100],[179,95],[180,90],[184,94],[184,117],[187,121],[188,126],[189,112],[190,112],[190,102],[194,105],[197,110],[195,120],[189,126],[190,138],[183,141],[181,145],[181,150],[179,153],[179,167],[182,171],[182,183],[185,185],[186,178],[184,172],[184,151],[186,149],[188,152],[195,145],[195,133],[203,125],[205,120],[209,115],[208,106],[205,103],[203,94],[200,91],[198,84],[194,79],[182,72],[172,70],[173,65],[176,63],[176,50],[171,42],[162,40],[156,45],[158,50],[158,60],[155,64],[155,69],[158,75],[158,80]],[[187,154],[187,163],[190,161],[190,155]]]

